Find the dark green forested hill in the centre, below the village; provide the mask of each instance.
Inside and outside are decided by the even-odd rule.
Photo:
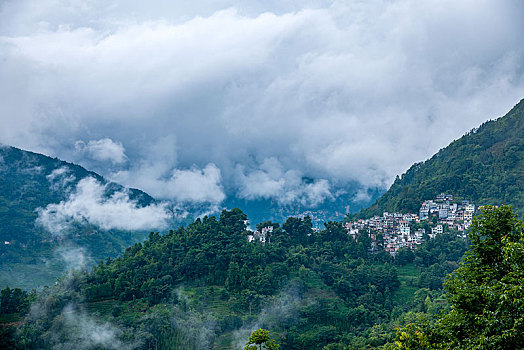
[[[308,217],[260,223],[274,228],[262,244],[248,242],[246,220],[233,209],[151,233],[122,257],[17,291],[4,346],[232,349],[262,327],[281,349],[387,347],[398,326],[448,310],[442,282],[468,249],[442,234],[393,259],[371,254],[365,233],[355,241],[339,222],[314,231]]]

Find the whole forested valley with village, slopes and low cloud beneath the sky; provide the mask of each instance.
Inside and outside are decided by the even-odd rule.
[[[189,221],[140,190],[3,146],[2,347],[518,348],[523,103],[322,228],[311,211]]]

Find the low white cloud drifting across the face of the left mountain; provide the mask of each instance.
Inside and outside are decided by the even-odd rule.
[[[106,186],[94,178],[80,180],[67,201],[37,209],[36,222],[61,235],[73,222],[90,223],[104,230],[151,230],[165,228],[170,213],[165,204],[139,207],[125,190],[106,196]]]

